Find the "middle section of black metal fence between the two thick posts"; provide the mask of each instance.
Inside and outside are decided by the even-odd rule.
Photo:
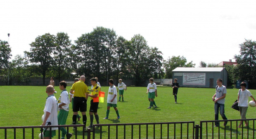
[[[93,139],[194,139],[194,121],[93,125]]]

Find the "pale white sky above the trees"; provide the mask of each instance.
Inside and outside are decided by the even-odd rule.
[[[255,0],[5,0],[0,39],[12,57],[29,51],[38,35],[65,32],[72,43],[102,26],[130,40],[141,34],[164,59],[184,56],[220,63],[239,54],[244,39],[256,41]]]

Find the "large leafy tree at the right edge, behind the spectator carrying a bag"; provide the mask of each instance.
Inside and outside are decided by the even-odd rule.
[[[240,55],[235,55],[237,65],[235,76],[247,80],[251,89],[256,89],[256,42],[247,40],[239,44]]]

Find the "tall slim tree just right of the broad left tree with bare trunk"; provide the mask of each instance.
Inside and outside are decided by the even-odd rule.
[[[71,49],[71,40],[69,40],[68,34],[59,32],[56,35],[56,48],[54,49],[54,62],[56,66],[53,66],[54,71],[57,72],[57,78],[60,82],[61,78],[65,78],[66,75],[71,75],[71,59],[69,52]]]

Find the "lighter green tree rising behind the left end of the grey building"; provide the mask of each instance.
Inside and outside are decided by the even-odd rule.
[[[177,67],[194,67],[193,61],[187,63],[187,59],[185,57],[175,57],[172,56],[171,58],[168,57],[167,60],[164,60],[164,68],[165,68],[165,78],[171,79],[173,78],[172,71]]]

